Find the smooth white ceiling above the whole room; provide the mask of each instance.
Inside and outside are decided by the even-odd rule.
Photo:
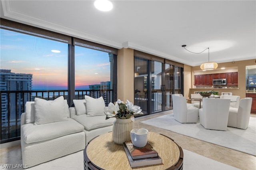
[[[255,0],[1,0],[1,18],[196,66],[256,59]]]

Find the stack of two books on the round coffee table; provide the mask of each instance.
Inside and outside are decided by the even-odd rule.
[[[143,148],[137,148],[132,141],[127,141],[123,146],[131,167],[162,163],[162,159],[149,143]]]

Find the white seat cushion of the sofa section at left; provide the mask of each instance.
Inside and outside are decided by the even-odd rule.
[[[83,130],[84,127],[81,124],[68,118],[67,121],[47,123],[43,125],[35,126],[33,123],[22,125],[21,136],[26,143],[34,143],[66,136]]]

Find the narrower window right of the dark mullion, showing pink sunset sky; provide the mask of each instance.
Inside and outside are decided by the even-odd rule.
[[[111,102],[111,56],[103,51],[75,46],[75,99],[90,95],[94,98],[102,96],[106,105]],[[85,89],[93,91],[83,93]]]

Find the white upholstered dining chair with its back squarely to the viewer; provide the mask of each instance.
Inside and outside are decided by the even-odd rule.
[[[227,130],[230,99],[203,99],[199,109],[200,124],[207,129]]]

